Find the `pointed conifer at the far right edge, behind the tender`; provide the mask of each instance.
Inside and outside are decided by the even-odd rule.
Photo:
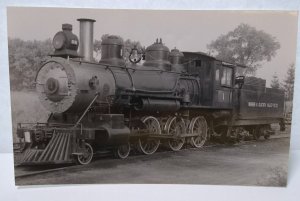
[[[291,64],[287,70],[283,88],[287,100],[293,100],[294,97],[294,81],[295,81],[295,64]]]

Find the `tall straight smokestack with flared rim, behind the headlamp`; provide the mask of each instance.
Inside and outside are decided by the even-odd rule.
[[[77,19],[80,23],[80,35],[79,35],[79,55],[83,57],[85,61],[93,61],[93,43],[94,43],[94,22],[93,19]]]

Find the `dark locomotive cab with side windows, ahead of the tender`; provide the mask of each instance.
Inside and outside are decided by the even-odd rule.
[[[187,73],[200,78],[200,104],[231,109],[235,66],[201,52],[183,54]]]

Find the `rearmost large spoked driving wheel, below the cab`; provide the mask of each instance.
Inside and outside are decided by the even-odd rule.
[[[196,147],[202,147],[207,139],[207,123],[204,117],[199,116],[192,119],[189,131],[197,136],[191,138],[191,144]]]

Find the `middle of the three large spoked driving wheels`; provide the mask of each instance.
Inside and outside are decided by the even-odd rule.
[[[166,124],[166,131],[168,135],[175,137],[168,141],[168,146],[173,151],[179,151],[184,145],[185,139],[181,138],[180,135],[185,133],[185,123],[182,118],[172,117]]]

